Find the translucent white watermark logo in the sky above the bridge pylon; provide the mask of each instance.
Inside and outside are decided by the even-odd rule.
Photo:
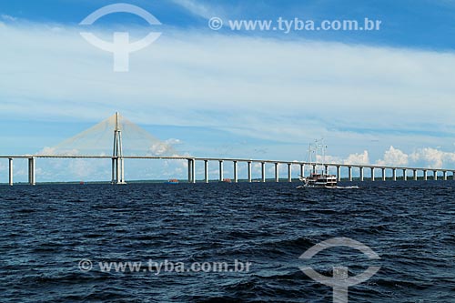
[[[146,20],[149,25],[161,25],[161,23],[154,15],[148,13],[143,8],[128,4],[115,4],[101,7],[92,14],[87,15],[79,25],[93,25],[99,18],[114,13],[129,13],[138,15]],[[157,40],[157,38],[161,35],[161,33],[150,32],[141,40],[134,43],[129,43],[128,32],[115,32],[113,43],[108,43],[98,38],[93,33],[80,32],[79,34],[82,35],[84,39],[86,39],[86,41],[91,45],[95,45],[99,49],[114,54],[115,72],[127,72],[129,70],[129,54],[147,47],[155,40]]]

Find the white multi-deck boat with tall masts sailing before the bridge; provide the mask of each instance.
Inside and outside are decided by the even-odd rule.
[[[323,140],[316,140],[315,144],[309,144],[308,148],[308,163],[310,164],[311,172],[308,177],[299,175],[298,179],[303,183],[297,188],[359,188],[359,187],[339,187],[337,184],[338,178],[336,175],[329,174],[329,167],[325,164],[327,146]],[[319,156],[319,151],[322,155]]]

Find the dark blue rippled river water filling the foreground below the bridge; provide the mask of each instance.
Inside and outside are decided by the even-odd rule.
[[[349,302],[455,302],[453,181],[296,186],[2,186],[0,301],[332,302],[300,268],[379,266]],[[355,247],[299,258],[339,237],[380,259]]]

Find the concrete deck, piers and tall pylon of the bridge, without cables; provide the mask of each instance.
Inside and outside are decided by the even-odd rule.
[[[248,168],[248,182],[253,182],[252,178],[252,165],[255,163],[260,164],[260,182],[266,182],[268,180],[266,176],[266,166],[273,166],[274,176],[272,180],[274,182],[279,182],[279,166],[286,166],[288,174],[286,176],[287,182],[292,182],[292,170],[293,167],[297,167],[298,173],[300,176],[304,176],[304,171],[306,167],[310,167],[313,170],[316,167],[324,167],[325,172],[329,172],[329,168],[336,168],[336,175],[338,180],[341,180],[342,169],[348,171],[348,180],[353,181],[353,170],[356,169],[359,173],[359,177],[356,178],[359,181],[364,181],[369,179],[370,181],[377,180],[376,172],[380,172],[380,180],[386,181],[386,172],[389,170],[392,173],[392,177],[389,178],[393,181],[398,179],[397,171],[400,171],[400,177],[402,180],[418,180],[419,173],[421,173],[421,178],[425,181],[429,179],[433,180],[455,180],[455,168],[454,169],[443,169],[443,168],[428,168],[428,167],[388,167],[388,166],[374,166],[374,165],[356,165],[356,164],[339,164],[339,163],[315,163],[315,162],[301,162],[301,161],[281,161],[281,160],[271,160],[271,159],[254,159],[254,158],[229,158],[229,157],[189,157],[189,156],[126,156],[123,154],[123,142],[122,142],[122,127],[120,126],[120,118],[118,113],[111,117],[114,124],[114,147],[112,156],[86,156],[86,155],[48,155],[48,154],[36,154],[36,155],[26,155],[26,156],[0,156],[1,158],[8,159],[8,184],[13,186],[14,184],[14,161],[15,159],[25,159],[28,161],[28,184],[36,184],[36,174],[35,174],[35,160],[36,158],[60,158],[60,159],[110,159],[112,167],[112,184],[126,184],[125,180],[125,160],[126,159],[157,159],[157,160],[186,160],[187,161],[187,182],[196,183],[196,166],[197,163],[201,163],[204,166],[204,179],[203,182],[209,182],[208,176],[208,163],[217,162],[218,167],[218,176],[219,181],[224,181],[224,165],[225,163],[231,163],[233,166],[233,176],[232,181],[238,182],[238,165],[243,164]],[[110,120],[108,120],[110,121]],[[97,125],[98,126],[98,125]],[[93,128],[96,128],[94,126]],[[86,132],[83,132],[86,134]],[[80,135],[75,136],[70,139],[71,142],[75,141]],[[153,138],[155,140],[155,138]],[[165,149],[171,149],[169,146],[165,146]],[[369,177],[365,176],[365,170],[369,170]],[[408,172],[412,172],[412,175],[409,176]],[[429,176],[429,172],[431,175]],[[378,178],[379,178],[378,177]]]

